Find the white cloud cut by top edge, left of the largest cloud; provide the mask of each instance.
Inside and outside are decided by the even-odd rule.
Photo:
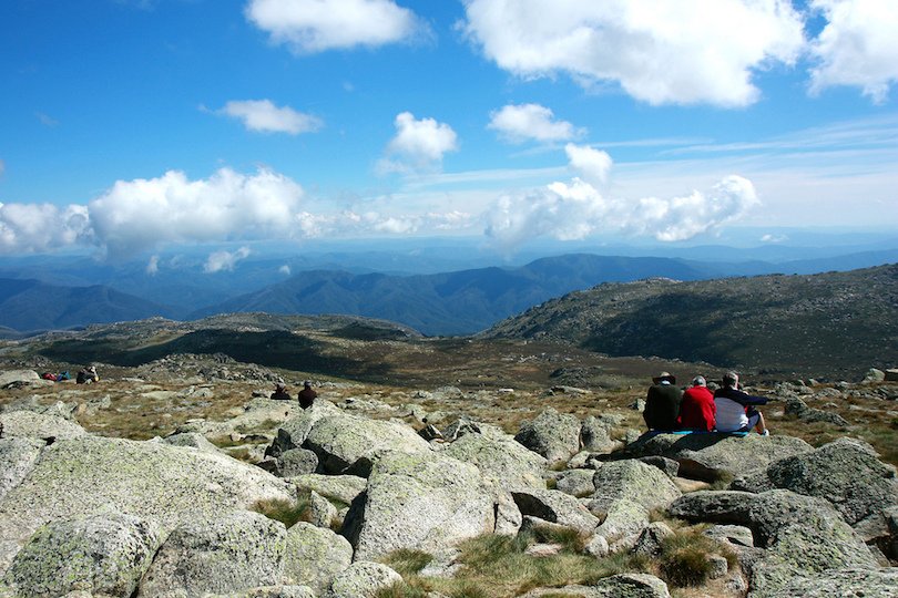
[[[251,0],[246,18],[296,53],[378,47],[426,29],[391,0]]]

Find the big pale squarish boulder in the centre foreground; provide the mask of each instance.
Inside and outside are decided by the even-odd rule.
[[[398,548],[438,553],[492,532],[493,499],[477,467],[433,453],[386,453],[347,515],[356,560]]]

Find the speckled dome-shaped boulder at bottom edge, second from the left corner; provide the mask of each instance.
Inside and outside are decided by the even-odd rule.
[[[202,596],[273,586],[284,569],[286,537],[282,523],[247,511],[185,523],[159,549],[139,596]]]

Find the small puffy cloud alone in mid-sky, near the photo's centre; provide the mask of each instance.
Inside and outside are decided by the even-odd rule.
[[[396,135],[387,144],[388,158],[380,163],[384,172],[427,171],[440,166],[447,152],[458,150],[458,136],[446,123],[433,118],[415,118],[402,112],[394,121]]]

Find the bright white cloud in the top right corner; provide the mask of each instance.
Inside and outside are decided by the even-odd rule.
[[[810,91],[854,85],[876,103],[898,82],[898,3],[895,0],[814,0],[828,23],[812,43],[819,64]]]

